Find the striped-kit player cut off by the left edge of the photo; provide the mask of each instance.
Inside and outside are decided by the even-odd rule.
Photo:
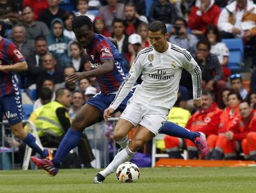
[[[0,21],[0,31],[2,29]],[[51,158],[48,150],[40,147],[35,137],[26,132],[22,125],[22,103],[19,85],[15,79],[15,72],[28,69],[24,56],[15,43],[0,35],[0,122],[3,113],[6,114],[12,134],[22,139],[30,148],[35,150],[44,159]]]

